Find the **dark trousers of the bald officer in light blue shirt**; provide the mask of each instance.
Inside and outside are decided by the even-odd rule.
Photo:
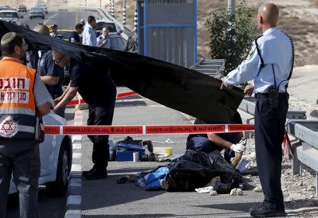
[[[288,94],[278,98],[278,108],[272,109],[269,99],[258,96],[255,107],[255,147],[259,180],[266,202],[277,210],[284,209],[281,190],[282,143],[288,111]]]

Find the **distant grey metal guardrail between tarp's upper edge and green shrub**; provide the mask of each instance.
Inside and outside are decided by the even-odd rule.
[[[221,78],[223,76],[224,68],[224,59],[201,59],[190,67],[190,69],[194,71],[198,71],[216,78]]]

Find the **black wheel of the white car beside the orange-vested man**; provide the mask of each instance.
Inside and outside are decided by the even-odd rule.
[[[47,193],[49,195],[64,196],[69,184],[69,174],[71,172],[71,155],[69,146],[64,140],[59,149],[59,160],[57,163],[57,180],[47,183]]]

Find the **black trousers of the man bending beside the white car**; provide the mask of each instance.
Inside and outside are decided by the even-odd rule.
[[[88,126],[111,126],[112,117],[114,116],[115,97],[107,106],[88,106],[89,114]],[[109,135],[88,135],[88,138],[93,143],[92,161],[94,167],[98,169],[105,169],[110,160],[110,148],[108,145]]]

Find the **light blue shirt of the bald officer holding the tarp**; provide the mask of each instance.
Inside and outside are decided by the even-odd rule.
[[[264,67],[260,68],[261,59],[257,54],[255,42],[253,42],[247,59],[235,70],[228,73],[225,83],[240,85],[254,79],[254,92],[266,93],[269,91],[269,87],[274,85],[274,69],[276,86],[278,87],[281,83],[279,92],[285,92],[285,85],[288,83],[287,78],[292,62],[292,44],[288,36],[277,28],[270,28],[264,32],[263,36],[259,37],[257,44],[264,60]]]

